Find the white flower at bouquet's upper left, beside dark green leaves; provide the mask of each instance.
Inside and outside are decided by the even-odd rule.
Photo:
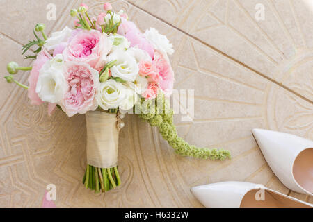
[[[67,42],[67,40],[72,35],[72,29],[65,26],[63,31],[52,33],[51,37],[49,37],[45,43],[45,48],[49,53],[56,49],[56,46],[61,44],[62,42]]]

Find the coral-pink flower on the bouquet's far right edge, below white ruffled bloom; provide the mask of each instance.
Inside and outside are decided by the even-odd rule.
[[[153,62],[157,69],[159,69],[159,86],[163,90],[164,94],[167,97],[170,97],[174,87],[174,71],[170,66],[168,57],[161,53],[161,51],[155,51]]]

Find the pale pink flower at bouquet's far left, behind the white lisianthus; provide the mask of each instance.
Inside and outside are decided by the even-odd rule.
[[[38,94],[36,93],[36,87],[38,82],[39,70],[42,66],[48,61],[51,60],[50,54],[43,49],[38,53],[38,56],[33,62],[33,69],[31,69],[31,74],[29,76],[29,89],[28,89],[28,96],[31,99],[31,104],[33,105],[41,105],[42,101],[39,98]]]

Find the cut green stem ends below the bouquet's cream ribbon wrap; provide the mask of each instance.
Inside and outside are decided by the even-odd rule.
[[[120,186],[118,167],[98,168],[88,165],[85,176],[83,176],[83,184],[95,193],[104,193],[110,189],[115,189]]]

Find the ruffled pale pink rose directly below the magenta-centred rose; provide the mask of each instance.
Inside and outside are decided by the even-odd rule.
[[[85,114],[97,108],[96,89],[99,85],[99,72],[90,65],[80,62],[65,62],[65,79],[69,91],[65,94],[62,109],[69,117]]]

